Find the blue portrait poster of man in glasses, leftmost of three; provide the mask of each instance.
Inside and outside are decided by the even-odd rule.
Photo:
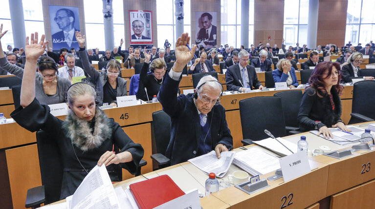
[[[75,32],[80,31],[78,7],[49,5],[52,47],[79,49]]]

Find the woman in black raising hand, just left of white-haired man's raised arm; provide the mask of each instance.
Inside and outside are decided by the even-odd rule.
[[[164,49],[162,49],[164,50]],[[160,50],[159,50],[160,54]],[[150,63],[151,51],[147,53],[145,50],[145,62],[143,63],[141,73],[139,74],[139,79],[142,82],[143,86],[147,89],[148,99],[140,98],[141,100],[151,101],[154,95],[160,90],[161,84],[164,81],[165,70],[167,69],[167,64],[162,58],[156,58]],[[147,73],[151,71],[151,74]],[[146,95],[144,95],[146,96]]]

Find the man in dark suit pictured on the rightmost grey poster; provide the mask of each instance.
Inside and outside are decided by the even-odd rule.
[[[208,12],[200,16],[203,27],[200,28],[197,34],[196,43],[204,42],[207,48],[212,48],[216,45],[216,26],[212,24],[212,15]]]

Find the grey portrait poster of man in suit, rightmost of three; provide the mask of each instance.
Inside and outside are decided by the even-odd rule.
[[[195,17],[197,23],[196,31],[198,31],[196,44],[198,46],[204,46],[204,48],[214,47],[217,44],[216,12],[196,12]]]

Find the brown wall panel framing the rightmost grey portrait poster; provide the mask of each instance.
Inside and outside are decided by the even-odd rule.
[[[217,40],[217,44],[220,46],[220,43],[221,43],[221,10],[220,10],[220,5],[221,5],[221,1],[220,0],[191,0],[191,34],[190,34],[190,41],[191,43],[195,43],[196,42],[196,39],[197,39],[197,33],[198,31],[196,31],[196,25],[197,25],[197,22],[196,22],[196,17],[195,17],[195,13],[196,12],[216,12],[217,14],[217,36],[216,36],[216,40]],[[216,23],[213,22],[213,25],[215,25]],[[186,31],[185,31],[186,32]],[[234,33],[234,31],[233,31]]]

